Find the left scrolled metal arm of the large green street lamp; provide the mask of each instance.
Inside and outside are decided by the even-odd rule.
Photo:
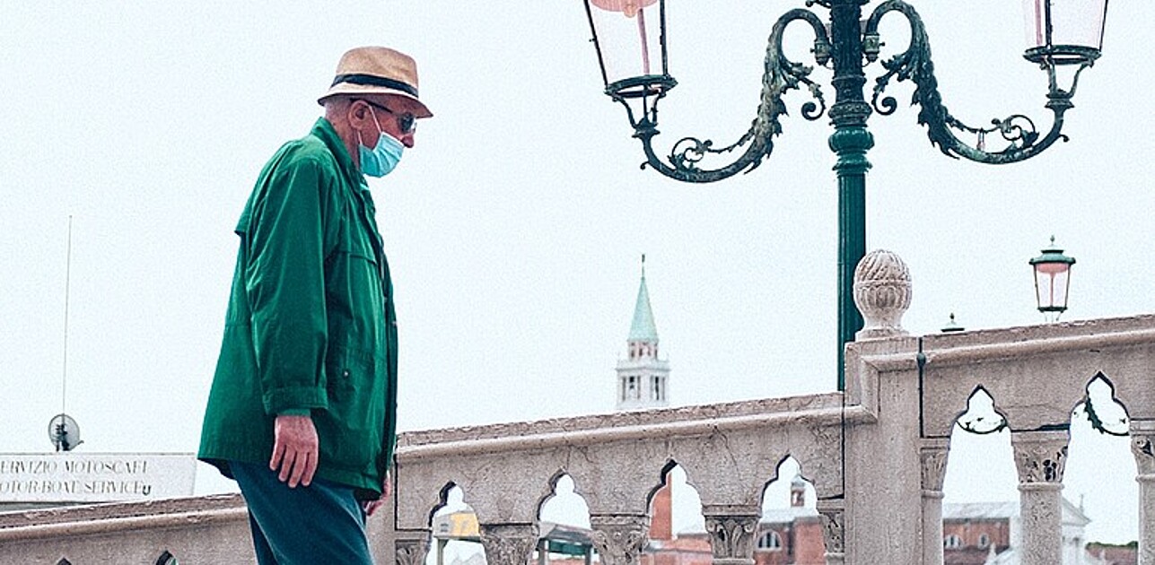
[[[821,0],[817,3],[826,6]],[[790,61],[782,52],[783,32],[790,23],[802,20],[814,29],[815,60],[825,65],[829,58],[829,37],[822,21],[812,12],[797,8],[788,12],[774,24],[769,45],[766,50],[766,71],[762,75],[762,99],[758,107],[758,116],[750,129],[737,142],[715,148],[713,140],[684,137],[673,144],[670,155],[662,159],[654,151],[653,140],[658,134],[657,126],[651,120],[641,120],[636,125],[634,137],[642,141],[647,161],[642,164],[654,167],[660,173],[688,182],[714,182],[735,174],[757,168],[774,150],[773,137],[782,133],[778,118],[787,114],[782,96],[789,90],[800,90],[805,85],[812,101],[802,106],[802,115],[807,120],[818,120],[826,113],[826,99],[822,89],[810,78],[813,67]],[[628,106],[627,106],[628,110]],[[745,152],[730,165],[716,170],[703,170],[699,163],[707,155],[732,152],[745,146]]]

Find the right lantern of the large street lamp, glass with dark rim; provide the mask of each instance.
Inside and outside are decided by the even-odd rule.
[[[1088,65],[1103,50],[1108,0],[1023,0],[1027,60]]]

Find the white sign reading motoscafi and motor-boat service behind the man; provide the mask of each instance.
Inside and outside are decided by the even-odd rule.
[[[0,503],[192,496],[192,453],[0,453]]]

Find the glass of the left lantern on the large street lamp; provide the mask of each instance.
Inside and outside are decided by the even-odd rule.
[[[588,0],[606,84],[664,75],[658,0]]]

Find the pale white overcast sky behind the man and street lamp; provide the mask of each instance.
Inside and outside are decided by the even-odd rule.
[[[69,216],[64,406],[84,449],[195,450],[232,226],[264,160],[319,115],[341,53],[364,44],[416,56],[437,114],[398,170],[371,182],[396,286],[402,430],[611,410],[643,253],[675,404],[835,385],[834,156],[827,119],[803,120],[797,92],[766,164],[690,186],[639,170],[625,112],[601,92],[578,0],[9,3],[0,452],[51,449]],[[729,144],[746,130],[766,37],[800,5],[670,2],[679,86],[662,104],[660,152],[684,135]],[[1026,113],[1049,128],[1045,75],[1021,58],[1019,2],[916,6],[953,114],[985,125]],[[1028,163],[946,158],[904,104],[872,118],[867,247],[909,264],[912,333],[938,331],[949,312],[968,329],[1041,323],[1027,259],[1052,234],[1079,261],[1065,319],[1155,311],[1145,258],[1155,77],[1139,63],[1155,55],[1150,29],[1148,2],[1112,2],[1104,55],[1067,114],[1071,142]],[[904,44],[897,18],[884,31]],[[803,52],[795,59],[810,62]],[[891,91],[904,101],[910,88]],[[1110,457],[1103,468],[1116,475],[1070,470],[1067,495],[1130,489],[1122,502],[1087,500],[1098,538],[1130,540],[1133,512],[1108,508],[1134,507],[1134,462],[1125,443],[1111,445],[1096,457],[1072,447],[1071,468]],[[985,498],[985,484],[1015,496],[1009,447],[1004,455],[991,464],[1004,469],[998,481],[977,467],[966,472],[975,492],[948,496]],[[210,473],[201,469],[202,490],[226,488]]]

